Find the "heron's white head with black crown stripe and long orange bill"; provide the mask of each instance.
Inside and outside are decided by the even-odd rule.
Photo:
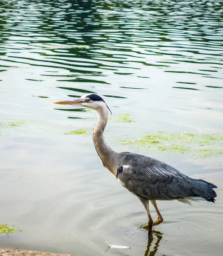
[[[79,99],[64,100],[64,101],[53,102],[53,103],[61,104],[61,105],[78,105],[81,107],[92,108],[95,110],[98,110],[99,108],[103,108],[103,107],[108,108],[107,104],[104,102],[104,99],[102,99],[101,96],[99,96],[96,93],[87,93],[87,94],[84,94]]]

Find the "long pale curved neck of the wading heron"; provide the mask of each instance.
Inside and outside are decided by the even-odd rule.
[[[104,140],[104,128],[107,125],[108,112],[106,108],[99,108],[98,112],[98,121],[93,129],[93,142],[98,153],[98,156],[101,158],[103,165],[114,175],[117,172],[115,154],[109,145],[107,145]]]

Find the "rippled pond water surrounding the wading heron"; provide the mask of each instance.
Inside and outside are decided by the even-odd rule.
[[[120,143],[160,130],[222,132],[222,10],[218,0],[0,1],[0,223],[22,229],[1,235],[0,247],[98,256],[107,240],[131,247],[107,255],[222,254],[223,155]],[[138,198],[98,159],[96,113],[52,105],[88,92],[113,113],[114,150],[213,182],[216,203],[158,202],[164,222],[148,242]],[[86,133],[65,134],[78,129]]]

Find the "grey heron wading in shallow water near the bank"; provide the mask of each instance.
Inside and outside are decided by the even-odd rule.
[[[217,188],[212,183],[201,179],[190,178],[177,169],[151,157],[130,152],[115,152],[104,140],[104,128],[107,125],[108,108],[104,100],[95,93],[88,93],[80,99],[54,102],[62,105],[80,105],[92,108],[98,112],[98,121],[93,128],[93,143],[98,156],[104,167],[106,167],[116,179],[136,195],[142,202],[148,215],[148,228],[150,236],[152,227],[160,224],[163,218],[156,205],[157,200],[178,200],[183,203],[206,200],[215,201]],[[153,222],[149,202],[157,213],[157,220]]]

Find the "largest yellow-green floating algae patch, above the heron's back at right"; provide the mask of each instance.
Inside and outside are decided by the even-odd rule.
[[[136,140],[121,140],[121,144],[164,151],[167,154],[190,154],[211,157],[223,154],[223,134],[190,134],[164,131],[144,134]]]

